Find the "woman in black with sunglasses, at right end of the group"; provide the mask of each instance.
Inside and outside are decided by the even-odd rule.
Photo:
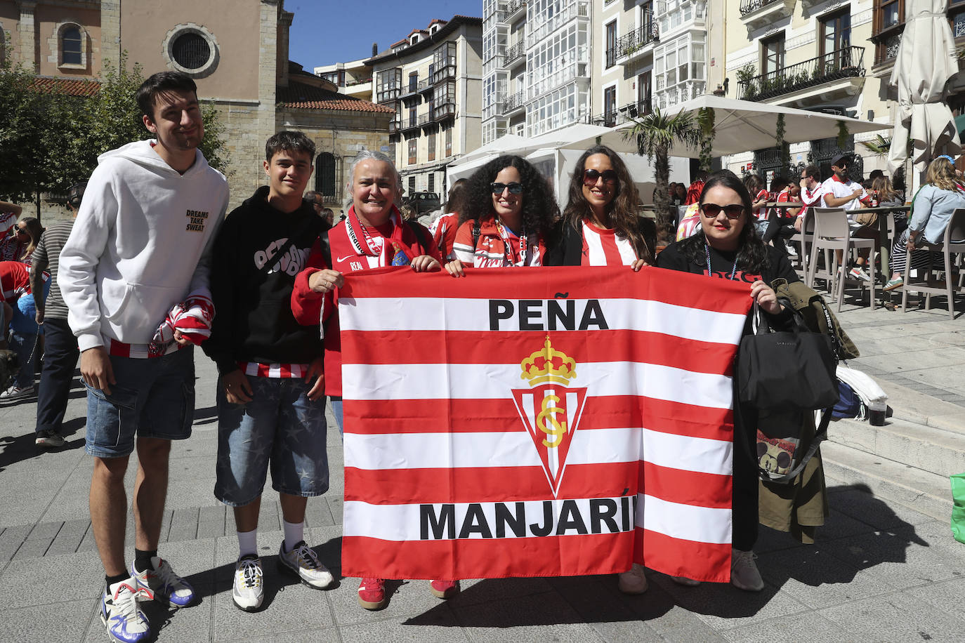
[[[800,280],[787,256],[764,245],[758,236],[747,188],[731,172],[711,174],[703,186],[700,208],[701,228],[657,255],[657,267],[750,282],[751,297],[768,317],[770,326],[784,325],[789,311],[778,302],[768,284],[778,278]],[[735,405],[734,411],[731,583],[759,592],[764,583],[753,551],[758,539],[758,463],[751,455],[756,447],[757,413],[742,405]],[[823,492],[823,483],[820,486]],[[689,578],[675,580],[687,585],[697,582]]]

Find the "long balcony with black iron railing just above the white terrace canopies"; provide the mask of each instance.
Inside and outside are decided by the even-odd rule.
[[[849,46],[738,81],[737,97],[798,107],[856,94],[865,82],[865,47]],[[777,99],[777,100],[775,100]]]

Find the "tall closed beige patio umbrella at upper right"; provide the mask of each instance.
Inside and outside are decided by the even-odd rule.
[[[958,72],[955,41],[947,15],[948,0],[905,3],[901,34],[890,83],[898,90],[893,108],[895,131],[888,153],[888,169],[895,173],[908,158],[924,172],[936,155],[961,150],[951,109],[942,99],[945,84]]]

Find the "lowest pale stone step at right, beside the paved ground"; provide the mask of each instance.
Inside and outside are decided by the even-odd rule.
[[[940,521],[951,518],[948,477],[909,467],[837,442],[821,443],[824,474],[831,483],[864,483],[875,496]],[[830,483],[829,483],[830,484]]]

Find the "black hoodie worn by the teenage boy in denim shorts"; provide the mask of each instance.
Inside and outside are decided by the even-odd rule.
[[[322,355],[318,326],[291,314],[291,289],[323,226],[311,203],[285,213],[268,204],[268,187],[234,208],[218,231],[211,257],[214,323],[202,344],[218,372],[237,362],[309,363]],[[278,250],[293,237],[283,256]],[[273,261],[270,272],[262,267]]]

